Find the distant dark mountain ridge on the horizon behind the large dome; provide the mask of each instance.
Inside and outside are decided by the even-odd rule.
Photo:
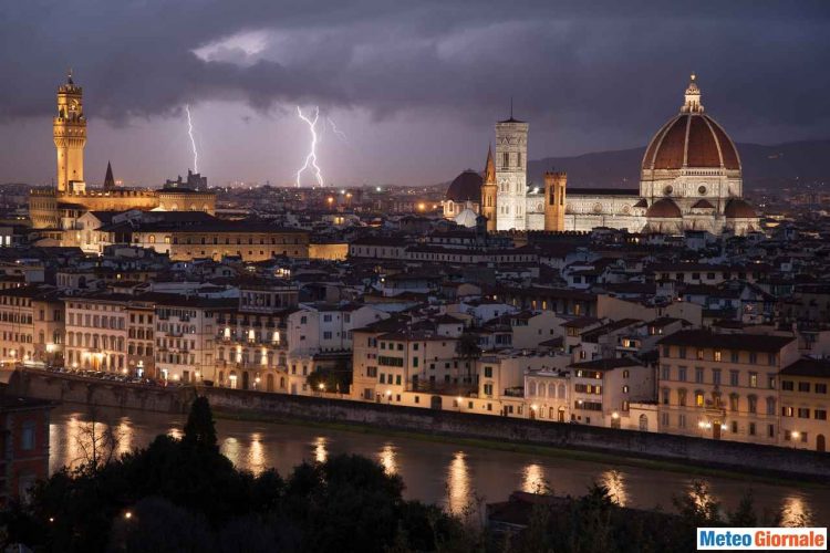
[[[800,140],[764,146],[736,144],[747,188],[780,186],[830,179],[830,139]],[[551,168],[568,173],[573,187],[637,188],[645,147],[595,152],[570,157],[546,157],[528,161],[528,179],[541,185]]]

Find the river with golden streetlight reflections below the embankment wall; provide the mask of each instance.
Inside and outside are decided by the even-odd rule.
[[[185,418],[128,409],[100,409],[95,419],[113,428],[118,451],[141,448],[159,434],[180,436]],[[90,441],[86,406],[64,404],[53,410],[50,428],[50,470],[85,459]],[[456,446],[381,434],[330,430],[308,426],[217,420],[221,451],[237,467],[252,472],[277,468],[290,473],[302,460],[324,461],[336,453],[376,459],[401,474],[411,499],[440,503],[453,512],[477,501],[504,501],[515,490],[550,489],[581,495],[592,481],[605,484],[623,505],[672,510],[672,498],[686,493],[693,478],[651,468],[546,457],[486,448]],[[830,521],[830,489],[798,488],[706,477],[708,489],[727,509],[734,509],[751,489],[756,509],[786,511],[786,520],[807,517],[815,524]]]

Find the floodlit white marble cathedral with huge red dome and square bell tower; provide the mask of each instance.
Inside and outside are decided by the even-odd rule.
[[[496,218],[496,230],[544,229],[543,187],[531,188],[527,181],[528,128],[528,123],[515,119],[512,114],[496,124],[496,206],[488,209],[484,194],[487,182],[479,185],[483,194],[476,206],[478,212],[484,209],[491,213],[488,217]],[[468,197],[473,179],[466,181],[464,196]],[[737,148],[723,127],[704,114],[701,90],[692,75],[679,113],[649,143],[640,188],[567,188],[564,230],[610,227],[667,234],[685,230],[745,234],[759,226],[743,194]],[[445,205],[452,204],[455,209],[461,196],[452,196]]]

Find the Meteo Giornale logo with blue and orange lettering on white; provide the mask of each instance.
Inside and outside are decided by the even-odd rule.
[[[698,551],[826,551],[826,528],[698,528]]]

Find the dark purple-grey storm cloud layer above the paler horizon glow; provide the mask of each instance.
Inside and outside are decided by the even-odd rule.
[[[95,116],[286,102],[640,137],[697,71],[704,105],[772,134],[830,122],[826,2],[20,1],[0,7],[0,116],[51,113],[75,69]],[[661,109],[657,119],[666,115]],[[630,129],[630,131],[629,131]],[[767,129],[767,131],[764,131]],[[759,142],[775,139],[758,136]]]

